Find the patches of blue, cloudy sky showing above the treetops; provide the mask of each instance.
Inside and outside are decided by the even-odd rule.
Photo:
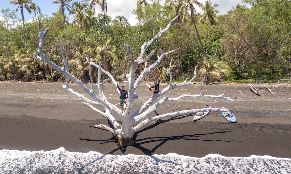
[[[36,3],[37,6],[40,7],[42,14],[47,14],[52,16],[53,12],[56,12],[58,8],[58,4],[52,4],[54,0],[32,0],[32,2]],[[74,0],[73,0],[74,1]],[[198,0],[201,3],[205,3],[204,0]],[[220,11],[220,14],[226,14],[229,10],[232,9],[231,6],[236,6],[237,3],[241,3],[241,0],[212,0],[213,3],[218,3],[219,7],[217,10]],[[163,3],[163,1],[162,1]],[[249,7],[249,6],[248,6]],[[17,6],[13,4],[9,4],[9,0],[1,0],[0,10],[9,8],[10,10],[16,9]],[[96,13],[99,13],[99,6],[96,6]],[[114,19],[116,16],[125,16],[131,25],[135,25],[138,23],[138,20],[135,19],[135,16],[132,14],[132,10],[136,8],[136,0],[107,0],[107,14]],[[198,8],[197,12],[200,12]],[[16,13],[16,15],[21,18],[20,10]],[[2,16],[0,14],[0,16]],[[34,17],[33,14],[29,14],[26,10],[24,10],[24,18],[29,21]],[[69,16],[71,18],[72,16]],[[70,21],[72,22],[72,20]]]

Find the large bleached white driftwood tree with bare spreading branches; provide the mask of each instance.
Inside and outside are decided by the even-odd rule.
[[[186,79],[182,83],[171,84],[171,82],[172,82],[171,64],[173,61],[173,59],[172,59],[170,66],[169,66],[169,68],[170,68],[169,74],[171,77],[170,84],[166,88],[161,90],[159,93],[155,94],[152,98],[150,98],[141,107],[139,107],[136,111],[133,112],[132,108],[134,106],[134,103],[138,99],[138,95],[136,93],[134,93],[134,91],[141,83],[143,77],[145,77],[145,75],[147,73],[149,73],[150,70],[155,68],[162,61],[162,59],[165,56],[167,56],[173,52],[176,52],[177,50],[179,50],[179,48],[165,52],[165,53],[162,50],[160,50],[161,55],[158,55],[155,63],[151,64],[150,66],[147,66],[147,61],[152,57],[152,55],[156,52],[157,49],[152,50],[152,52],[150,52],[150,54],[147,56],[144,56],[145,50],[153,42],[155,42],[157,39],[159,39],[162,36],[162,34],[165,33],[170,28],[170,26],[173,24],[173,22],[177,19],[178,19],[178,16],[175,17],[175,19],[171,20],[170,23],[168,23],[168,25],[166,26],[166,28],[164,28],[164,29],[161,28],[160,32],[157,35],[155,35],[155,29],[154,29],[152,39],[150,39],[150,41],[148,41],[148,42],[145,42],[141,46],[141,54],[139,55],[139,57],[136,60],[134,59],[134,57],[132,55],[132,52],[131,52],[129,45],[124,44],[125,48],[127,49],[128,53],[129,53],[129,56],[130,56],[131,68],[130,68],[129,73],[126,75],[128,82],[129,82],[129,88],[128,88],[129,97],[127,100],[129,104],[128,104],[127,108],[124,110],[123,114],[121,114],[121,115],[120,115],[121,110],[119,108],[117,108],[116,106],[114,106],[113,104],[109,103],[106,99],[106,96],[104,95],[104,85],[103,85],[104,82],[111,80],[113,82],[113,84],[116,85],[116,87],[117,87],[117,84],[116,84],[116,81],[114,80],[113,76],[108,71],[105,71],[104,69],[101,68],[101,63],[99,63],[99,65],[97,65],[93,62],[90,62],[90,58],[87,57],[87,61],[89,64],[89,72],[90,72],[89,76],[91,78],[91,89],[89,89],[86,86],[84,86],[84,84],[82,84],[82,82],[79,81],[76,77],[74,77],[69,72],[67,72],[67,67],[65,64],[64,56],[63,56],[63,61],[64,61],[63,67],[57,66],[56,64],[54,64],[52,61],[50,61],[48,59],[48,57],[42,51],[44,37],[48,32],[48,28],[46,28],[44,31],[42,31],[42,26],[41,26],[40,20],[39,20],[39,38],[40,38],[40,41],[39,41],[39,47],[37,50],[37,54],[38,54],[37,58],[38,58],[38,60],[49,64],[49,66],[52,66],[61,74],[65,75],[66,76],[66,85],[64,85],[63,88],[65,88],[66,90],[70,91],[72,94],[74,94],[77,97],[84,100],[83,103],[86,106],[90,107],[91,109],[95,110],[97,113],[101,114],[103,117],[107,118],[111,122],[111,124],[113,125],[113,128],[111,128],[109,126],[100,124],[100,125],[96,125],[97,128],[105,129],[107,131],[110,131],[114,135],[116,135],[118,137],[118,143],[120,144],[120,146],[132,146],[135,143],[134,140],[132,139],[134,133],[141,130],[141,128],[143,128],[143,126],[145,126],[146,124],[148,124],[150,122],[154,122],[156,120],[163,119],[166,117],[185,115],[185,114],[189,114],[189,113],[204,112],[204,111],[216,111],[216,112],[227,111],[227,110],[221,110],[220,108],[201,108],[201,109],[181,110],[178,112],[166,113],[166,114],[158,115],[155,117],[149,117],[151,113],[153,113],[157,108],[159,108],[160,106],[162,106],[166,102],[176,101],[176,100],[179,100],[183,97],[211,97],[211,98],[223,98],[223,99],[226,99],[229,101],[233,101],[232,99],[224,97],[224,93],[222,95],[203,95],[202,94],[202,87],[201,87],[201,93],[198,95],[184,94],[184,95],[181,95],[181,96],[176,97],[176,98],[164,97],[161,100],[159,100],[158,102],[156,102],[155,104],[153,104],[153,102],[156,99],[158,99],[160,96],[166,94],[171,89],[178,88],[181,86],[191,85],[192,84],[191,81],[193,81],[196,78],[196,68],[198,65],[195,67],[195,75],[191,80],[189,80],[187,82],[188,79]],[[60,45],[61,52],[63,54],[60,40],[59,40],[59,45]],[[137,79],[135,79],[136,68],[143,63],[144,63],[144,70],[141,72],[139,77]],[[98,88],[98,93],[97,93],[98,96],[94,93],[94,89],[93,89],[91,66],[95,66],[96,68],[98,68],[98,79],[97,79],[97,84],[96,84],[97,88]],[[106,79],[103,82],[100,82],[101,73],[105,73],[106,75],[108,75],[109,79]],[[83,89],[88,95],[90,95],[92,97],[92,99],[88,99],[88,98],[84,97],[83,95],[72,90],[68,86],[68,78],[70,78],[72,81],[74,81],[76,84],[78,84],[81,89]],[[120,92],[118,91],[118,93],[120,93]],[[103,106],[105,108],[106,112],[104,113],[93,106]],[[116,119],[115,119],[115,117],[113,117],[113,115],[115,117],[118,117],[121,120],[121,124],[119,124],[116,121]]]

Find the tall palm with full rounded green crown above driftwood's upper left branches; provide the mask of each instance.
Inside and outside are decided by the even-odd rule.
[[[74,15],[72,17],[74,18],[73,25],[79,25],[80,34],[77,46],[77,48],[79,48],[82,27],[85,26],[85,28],[89,28],[88,21],[91,20],[90,15],[93,15],[93,12],[89,9],[87,3],[79,3],[75,1],[72,3],[72,10],[70,10],[69,14]]]

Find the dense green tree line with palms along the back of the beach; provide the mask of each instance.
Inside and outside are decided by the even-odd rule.
[[[25,4],[23,8],[20,2]],[[68,70],[83,82],[89,79],[85,54],[96,63],[101,61],[103,68],[117,80],[125,80],[130,60],[123,43],[131,46],[134,56],[138,55],[141,44],[152,38],[154,28],[156,33],[159,32],[176,15],[179,15],[178,22],[148,50],[161,48],[168,51],[177,47],[180,50],[164,58],[144,80],[161,77],[167,81],[172,57],[171,71],[175,80],[192,77],[198,62],[199,80],[204,83],[289,79],[291,2],[243,2],[251,4],[251,8],[237,4],[227,14],[219,15],[216,10],[219,4],[211,1],[201,4],[195,0],[166,0],[160,4],[158,0],[151,3],[137,0],[137,8],[132,13],[140,24],[130,26],[123,14],[117,17],[106,14],[105,0],[88,0],[88,3],[57,0],[53,3],[58,3],[59,9],[53,17],[41,14],[41,9],[32,1],[11,1],[17,9],[29,10],[34,16],[38,14],[43,28],[49,27],[43,50],[58,65],[63,61],[58,45],[60,38]],[[100,14],[95,14],[96,5],[100,6]],[[194,7],[203,12],[196,13]],[[1,13],[0,80],[63,81],[61,74],[36,59],[38,20],[25,23],[23,16],[17,17],[15,10],[10,9],[3,9]],[[69,18],[73,23],[68,22]],[[155,61],[155,56],[149,61]]]

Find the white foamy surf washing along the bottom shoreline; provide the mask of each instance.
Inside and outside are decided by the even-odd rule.
[[[291,159],[271,156],[202,158],[167,155],[102,155],[52,151],[0,151],[0,173],[272,173],[291,174]]]

